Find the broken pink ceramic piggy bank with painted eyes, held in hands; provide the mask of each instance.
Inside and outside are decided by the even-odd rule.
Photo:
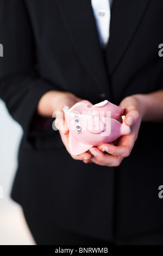
[[[70,109],[65,106],[63,110],[69,130],[69,147],[73,155],[80,155],[103,143],[112,143],[131,132],[130,127],[124,123],[124,108],[108,100],[96,105],[82,100]]]

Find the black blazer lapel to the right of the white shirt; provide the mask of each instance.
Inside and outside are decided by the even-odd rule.
[[[123,58],[150,0],[114,0],[106,54],[111,75]]]

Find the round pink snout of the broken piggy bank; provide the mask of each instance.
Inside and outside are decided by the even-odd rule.
[[[86,130],[90,133],[99,134],[106,129],[105,123],[101,117],[86,115],[85,122]]]

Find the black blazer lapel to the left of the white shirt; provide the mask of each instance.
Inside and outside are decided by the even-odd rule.
[[[108,93],[108,76],[99,44],[91,1],[56,0],[56,2],[80,60],[101,92]]]

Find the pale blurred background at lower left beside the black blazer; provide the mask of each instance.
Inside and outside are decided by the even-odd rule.
[[[0,99],[0,245],[35,245],[21,206],[10,198],[22,134]]]

